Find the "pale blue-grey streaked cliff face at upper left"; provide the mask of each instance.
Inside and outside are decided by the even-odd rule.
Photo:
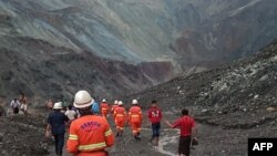
[[[173,38],[154,21],[160,12],[141,1],[12,0],[1,8],[18,35],[132,64],[174,55],[164,44]]]

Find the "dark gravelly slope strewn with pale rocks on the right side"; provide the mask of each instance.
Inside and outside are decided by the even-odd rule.
[[[277,117],[276,112],[266,111],[268,106],[277,105],[276,46],[277,41],[253,58],[174,79],[131,95],[126,101],[140,96],[145,107],[150,106],[152,98],[160,101],[165,110],[172,110],[172,104],[187,106],[198,118],[226,127],[255,127],[260,123],[266,126],[269,122],[265,122],[260,116]],[[237,123],[237,119],[240,123]]]

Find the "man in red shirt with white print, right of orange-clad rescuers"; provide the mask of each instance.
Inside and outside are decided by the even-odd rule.
[[[160,129],[161,129],[161,119],[163,117],[162,111],[157,107],[157,102],[155,100],[152,101],[151,108],[147,112],[148,121],[152,126],[152,138],[150,142],[154,141],[154,145],[158,145]]]

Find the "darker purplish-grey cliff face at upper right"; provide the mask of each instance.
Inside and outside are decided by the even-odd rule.
[[[198,9],[194,15],[198,19],[197,24],[183,29],[182,35],[171,45],[182,55],[183,66],[213,66],[249,56],[277,35],[276,6],[273,4],[276,1],[206,2],[213,4],[201,3],[207,4],[202,11],[196,3],[191,6]]]

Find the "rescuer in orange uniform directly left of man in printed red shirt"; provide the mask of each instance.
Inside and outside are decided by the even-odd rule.
[[[140,134],[142,129],[142,110],[138,107],[137,100],[133,100],[132,105],[133,106],[129,110],[129,122],[135,141],[141,141]]]

